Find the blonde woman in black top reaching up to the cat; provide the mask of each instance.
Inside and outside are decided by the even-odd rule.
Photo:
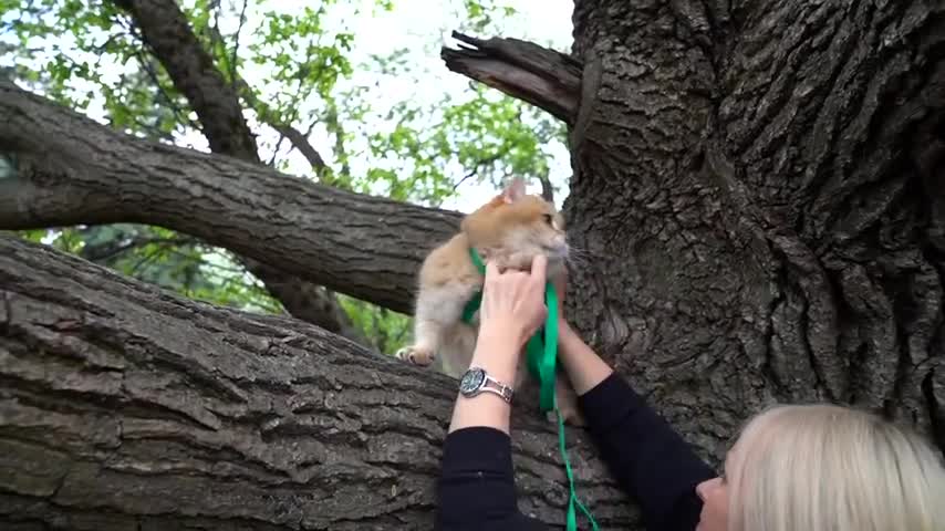
[[[542,257],[531,273],[487,264],[471,366],[515,382],[518,353],[547,314],[544,282]],[[917,436],[853,409],[779,407],[746,426],[716,477],[563,316],[559,330],[589,431],[647,530],[945,530],[945,469]],[[509,402],[467,391],[444,444],[436,529],[547,529],[517,508]]]

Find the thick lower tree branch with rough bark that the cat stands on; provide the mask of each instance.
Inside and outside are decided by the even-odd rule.
[[[8,237],[0,287],[0,528],[430,529],[454,381]],[[517,404],[520,506],[560,525],[554,427]],[[602,529],[625,529],[568,437]]]

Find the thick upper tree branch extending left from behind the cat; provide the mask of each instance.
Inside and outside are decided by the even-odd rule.
[[[404,313],[420,260],[460,218],[133,138],[9,83],[0,150],[19,175],[0,180],[0,229],[162,226]]]

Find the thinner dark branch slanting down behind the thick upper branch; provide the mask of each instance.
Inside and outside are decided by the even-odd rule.
[[[153,50],[174,85],[196,110],[210,149],[262,164],[256,138],[242,116],[237,92],[226,82],[210,54],[199,43],[180,8],[167,0],[123,0],[118,3],[132,14],[145,44]],[[241,80],[240,83],[242,90],[251,94],[246,83]],[[279,131],[297,146],[300,140],[304,140],[291,127],[283,126]],[[311,146],[309,148],[314,152]],[[307,156],[310,155],[307,153]],[[314,155],[318,157],[318,153]],[[318,159],[321,160],[321,157]],[[321,165],[323,167],[324,163]],[[291,315],[367,344],[367,340],[352,324],[330,292],[285,274],[278,268],[245,257],[237,258],[262,281],[267,291]]]

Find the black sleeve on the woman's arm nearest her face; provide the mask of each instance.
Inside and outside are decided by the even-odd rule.
[[[640,504],[646,529],[696,529],[702,500],[695,487],[715,471],[616,373],[579,403],[602,458]]]

